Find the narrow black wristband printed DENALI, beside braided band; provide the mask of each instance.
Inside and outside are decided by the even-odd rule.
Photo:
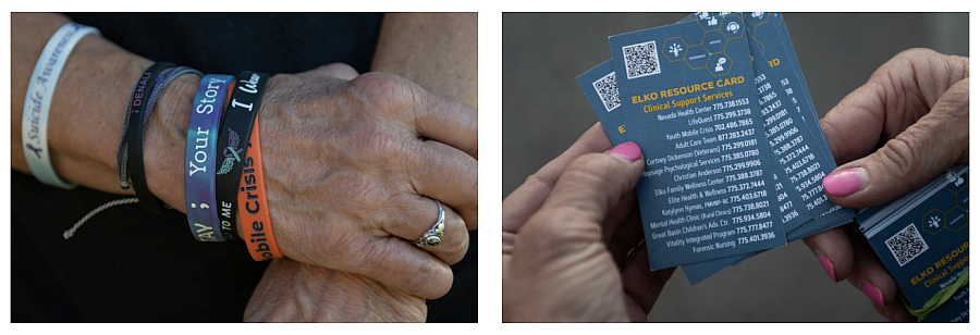
[[[130,178],[133,182],[133,190],[136,191],[136,197],[139,198],[139,204],[154,214],[159,214],[163,210],[160,209],[161,206],[157,202],[159,200],[154,197],[154,194],[149,191],[149,187],[146,185],[146,175],[143,169],[143,122],[146,114],[146,106],[148,104],[150,92],[156,86],[157,77],[163,70],[174,66],[176,65],[173,63],[158,62],[147,69],[139,82],[136,83],[136,88],[133,89],[133,97],[130,99],[132,102],[127,111],[130,113],[130,123],[126,126],[128,128],[128,159],[126,164],[130,170]],[[137,95],[140,98],[137,99]]]

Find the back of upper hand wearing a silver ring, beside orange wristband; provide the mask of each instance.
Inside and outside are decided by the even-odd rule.
[[[477,228],[476,109],[400,77],[321,67],[270,82],[261,111],[269,207],[283,255],[434,299]],[[413,243],[445,210],[436,247]]]

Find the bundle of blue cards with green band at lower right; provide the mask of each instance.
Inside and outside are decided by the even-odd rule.
[[[956,165],[892,202],[858,213],[860,231],[915,309],[968,280],[969,165]],[[948,302],[948,300],[947,300]]]

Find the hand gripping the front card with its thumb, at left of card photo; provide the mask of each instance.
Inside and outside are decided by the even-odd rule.
[[[646,321],[674,269],[642,245],[639,148],[611,146],[596,124],[504,199],[504,321]]]

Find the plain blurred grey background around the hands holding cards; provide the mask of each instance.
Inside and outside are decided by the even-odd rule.
[[[598,120],[575,77],[608,60],[608,37],[689,13],[503,14],[503,195]],[[969,57],[966,13],[785,13],[822,117],[881,64],[908,48]],[[690,286],[674,273],[650,321],[886,321],[849,283],[834,284],[795,241]]]

